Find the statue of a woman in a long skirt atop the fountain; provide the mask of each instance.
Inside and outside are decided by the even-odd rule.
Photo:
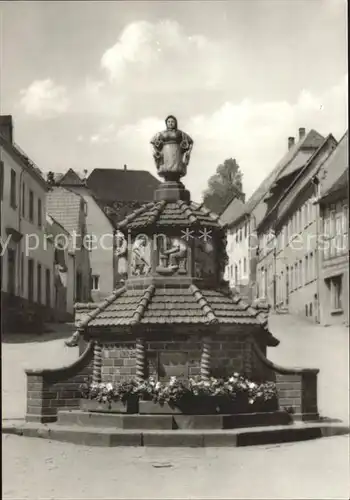
[[[166,130],[158,132],[151,144],[158,174],[165,180],[179,180],[187,173],[193,140],[178,130],[177,119],[169,115],[165,119]]]

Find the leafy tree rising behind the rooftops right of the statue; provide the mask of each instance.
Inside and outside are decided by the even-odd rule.
[[[204,205],[212,212],[221,215],[234,198],[244,198],[242,177],[236,160],[233,158],[225,160],[208,181],[208,188],[203,194]]]

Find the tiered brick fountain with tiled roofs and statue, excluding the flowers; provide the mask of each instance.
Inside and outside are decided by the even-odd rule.
[[[73,365],[27,371],[27,421],[95,422],[99,427],[107,425],[107,415],[108,425],[120,429],[176,433],[184,427],[317,420],[318,370],[286,369],[266,358],[267,347],[279,343],[268,329],[268,308],[244,302],[224,281],[225,228],[217,215],[191,201],[181,182],[193,140],[178,129],[175,117],[165,123],[166,130],[151,141],[164,182],[153,202],[118,226],[124,234],[119,255],[128,264],[125,281],[101,303],[76,304],[77,330],[66,342],[79,345],[80,357]],[[132,407],[109,406],[107,411],[102,403],[82,399],[79,389],[87,377],[94,384],[130,379],[141,383],[150,376],[160,381],[200,376],[209,381],[234,372],[275,382],[275,407],[235,415],[220,408],[212,415],[192,411],[189,418],[179,409],[136,401]]]

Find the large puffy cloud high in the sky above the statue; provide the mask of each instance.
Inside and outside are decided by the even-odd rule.
[[[105,51],[101,66],[111,82],[128,82],[128,90],[203,90],[221,80],[223,50],[202,35],[186,34],[176,21],[138,21]]]

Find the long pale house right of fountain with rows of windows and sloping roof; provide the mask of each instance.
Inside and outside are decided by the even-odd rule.
[[[317,173],[337,142],[329,135],[302,166],[290,164],[265,197],[257,228],[257,294],[276,309],[320,320]]]

